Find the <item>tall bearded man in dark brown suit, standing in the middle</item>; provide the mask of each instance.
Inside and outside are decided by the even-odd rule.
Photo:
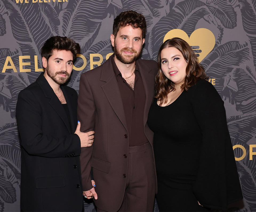
[[[139,59],[145,31],[143,15],[120,13],[110,37],[114,55],[81,75],[78,119],[81,131],[95,131],[93,146],[81,150],[83,194],[94,195],[97,211],[153,211],[156,175],[147,115],[157,63]]]

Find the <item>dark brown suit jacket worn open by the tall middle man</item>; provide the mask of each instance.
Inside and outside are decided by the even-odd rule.
[[[138,59],[136,67],[140,71],[146,94],[144,132],[153,149],[153,132],[146,122],[154,94],[157,63]],[[92,167],[98,194],[96,206],[106,211],[117,211],[122,204],[126,187],[127,178],[123,178],[123,174],[127,175],[128,158],[123,155],[128,155],[129,134],[111,58],[81,75],[78,120],[81,121],[81,131],[95,131],[93,145],[81,150],[83,190],[92,188]]]

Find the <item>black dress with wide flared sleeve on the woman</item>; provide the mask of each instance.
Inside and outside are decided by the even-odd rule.
[[[154,99],[148,125],[160,211],[226,210],[242,199],[225,108],[211,83],[198,81],[165,107]]]

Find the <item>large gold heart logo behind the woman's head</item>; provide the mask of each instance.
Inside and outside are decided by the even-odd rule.
[[[198,56],[199,62],[206,57],[207,54],[213,50],[215,45],[214,34],[206,28],[199,28],[189,36],[187,33],[181,29],[172,29],[166,33],[163,38],[163,42],[171,38],[181,38],[186,41],[194,50],[195,54]]]

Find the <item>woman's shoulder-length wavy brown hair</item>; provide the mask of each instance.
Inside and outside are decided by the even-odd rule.
[[[155,81],[156,81],[155,98],[157,98],[160,101],[160,105],[162,105],[163,102],[164,103],[167,102],[168,93],[176,90],[174,86],[175,84],[164,75],[161,69],[161,51],[169,47],[174,47],[178,49],[182,53],[185,61],[187,62],[185,81],[181,85],[182,90],[187,91],[189,87],[195,85],[195,83],[197,83],[198,80],[200,79],[207,80],[209,78],[205,74],[205,70],[203,69],[203,66],[200,65],[194,51],[186,41],[184,41],[181,38],[172,38],[165,41],[160,47],[157,55],[158,73],[155,77]]]

